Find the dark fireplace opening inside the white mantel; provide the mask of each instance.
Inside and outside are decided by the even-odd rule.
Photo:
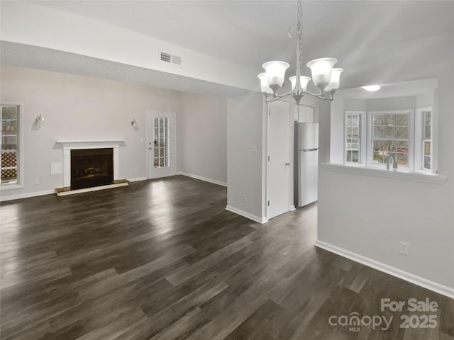
[[[114,149],[71,150],[71,190],[114,182]]]

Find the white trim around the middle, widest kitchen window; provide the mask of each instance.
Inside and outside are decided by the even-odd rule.
[[[375,169],[382,169],[386,164],[377,164],[372,163],[373,159],[373,120],[372,115],[374,114],[386,114],[386,113],[409,113],[409,165],[408,166],[399,166],[404,170],[414,171],[414,159],[415,159],[415,135],[414,135],[414,109],[404,109],[404,110],[380,110],[380,111],[367,111],[367,166]]]

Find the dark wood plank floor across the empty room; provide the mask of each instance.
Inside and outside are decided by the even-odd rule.
[[[184,176],[2,203],[1,339],[454,339],[454,300],[314,247],[316,205],[265,225],[225,207]]]

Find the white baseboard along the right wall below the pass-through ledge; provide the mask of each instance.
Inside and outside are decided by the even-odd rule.
[[[315,246],[325,249],[327,251],[331,251],[334,254],[338,254],[340,256],[346,257],[347,259],[353,260],[355,262],[359,262],[364,264],[365,266],[369,266],[371,268],[377,269],[378,271],[382,271],[389,275],[395,276],[397,278],[402,278],[402,280],[406,280],[410,283],[414,283],[415,285],[419,285],[423,288],[427,288],[428,290],[432,290],[433,292],[439,293],[441,295],[445,295],[454,299],[454,288],[450,288],[447,285],[441,285],[440,283],[436,283],[431,280],[427,280],[426,278],[421,278],[421,276],[416,276],[412,273],[402,271],[398,268],[394,268],[392,266],[388,266],[379,261],[375,261],[369,259],[365,256],[360,254],[353,253],[352,251],[348,251],[338,246],[333,246],[332,244],[319,241],[315,242]]]

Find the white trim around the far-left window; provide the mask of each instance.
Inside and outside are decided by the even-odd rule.
[[[20,102],[9,102],[9,101],[2,101],[0,103],[1,106],[17,106],[18,107],[18,125],[17,125],[17,129],[18,129],[18,138],[17,138],[17,142],[18,142],[18,148],[17,148],[17,152],[18,152],[18,171],[17,171],[17,176],[18,176],[18,179],[17,179],[17,183],[3,183],[1,184],[0,183],[0,191],[4,191],[4,190],[12,190],[12,189],[18,189],[18,188],[23,188],[25,186],[25,143],[24,143],[24,140],[25,140],[25,129],[24,129],[24,111],[25,111],[25,106],[23,103],[20,103]]]

